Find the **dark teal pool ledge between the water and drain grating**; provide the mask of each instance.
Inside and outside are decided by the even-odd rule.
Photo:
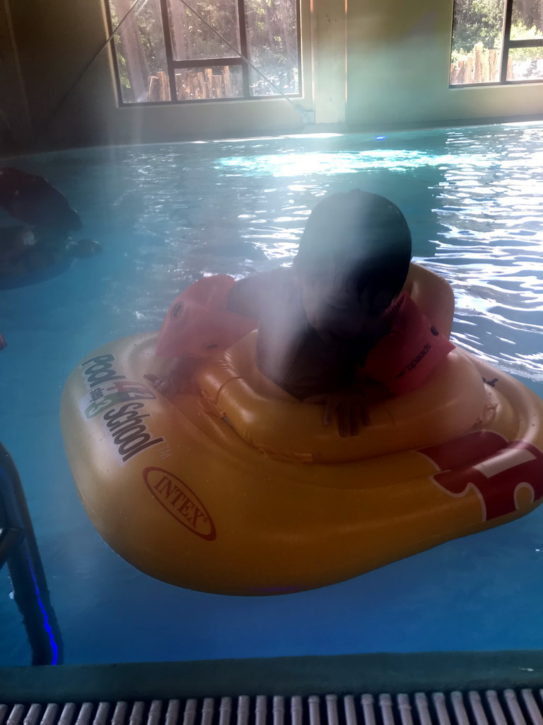
[[[1,703],[519,689],[543,684],[543,650],[378,653],[0,667]]]

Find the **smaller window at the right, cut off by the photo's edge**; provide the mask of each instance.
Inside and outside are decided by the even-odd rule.
[[[450,85],[543,80],[543,0],[455,0]]]

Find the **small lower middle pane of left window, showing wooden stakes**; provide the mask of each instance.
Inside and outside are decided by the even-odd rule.
[[[177,99],[180,101],[243,96],[243,79],[239,65],[180,68],[175,71],[175,85]]]

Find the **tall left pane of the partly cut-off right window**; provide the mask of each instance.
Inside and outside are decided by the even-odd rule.
[[[500,80],[504,0],[455,0],[450,83]]]

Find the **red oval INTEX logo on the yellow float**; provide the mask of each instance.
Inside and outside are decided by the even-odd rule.
[[[143,480],[153,497],[189,531],[209,542],[216,539],[211,516],[187,484],[164,468],[154,466],[144,469]]]

